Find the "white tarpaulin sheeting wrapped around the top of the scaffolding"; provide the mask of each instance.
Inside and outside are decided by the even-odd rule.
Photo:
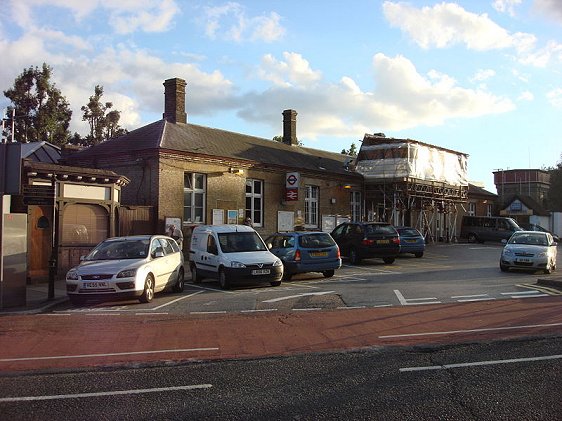
[[[367,180],[410,177],[467,186],[467,161],[465,154],[418,143],[363,144],[356,170]]]

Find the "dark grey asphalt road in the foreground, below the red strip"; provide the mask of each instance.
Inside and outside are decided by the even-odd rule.
[[[562,338],[0,376],[5,420],[554,420]]]

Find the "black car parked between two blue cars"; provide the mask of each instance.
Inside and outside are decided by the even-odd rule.
[[[400,254],[398,232],[386,222],[344,222],[331,235],[341,255],[354,265],[370,258],[382,258],[392,264]]]

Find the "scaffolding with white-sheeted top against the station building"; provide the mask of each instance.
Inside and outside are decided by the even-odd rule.
[[[457,241],[467,157],[411,139],[365,135],[356,170],[365,178],[366,219],[413,226],[428,243]]]

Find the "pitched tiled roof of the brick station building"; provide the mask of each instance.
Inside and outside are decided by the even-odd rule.
[[[156,121],[119,138],[76,152],[70,155],[67,161],[154,149],[359,177],[358,174],[346,170],[345,164],[350,161],[347,155],[290,146],[273,140],[196,124],[170,123],[165,120]]]

